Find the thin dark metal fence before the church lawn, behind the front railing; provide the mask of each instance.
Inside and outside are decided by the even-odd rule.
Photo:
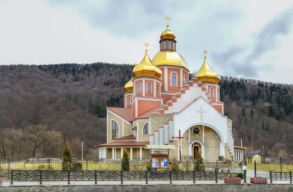
[[[83,171],[120,171],[121,159],[97,159],[97,160],[74,160],[72,164],[80,163],[79,170]],[[198,161],[185,159],[179,162],[175,159],[169,159],[169,169],[173,168],[177,164],[176,171],[193,171],[194,165]],[[243,172],[242,166],[244,162],[238,161],[201,161],[201,169],[198,171],[214,172],[218,170],[219,173],[241,173]],[[72,168],[73,165],[69,165],[67,168]],[[67,170],[67,168],[65,170]],[[145,159],[132,159],[129,160],[130,171],[145,171],[149,170],[150,161]],[[60,158],[0,158],[0,173],[9,172],[9,170],[43,170],[43,171],[61,171],[62,159]],[[166,170],[166,169],[165,169]],[[197,171],[197,170],[195,170]]]

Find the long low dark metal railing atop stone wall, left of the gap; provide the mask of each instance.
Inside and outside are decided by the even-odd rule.
[[[43,181],[121,181],[124,180],[145,180],[146,184],[152,180],[214,180],[218,182],[218,178],[226,176],[235,176],[236,173],[218,173],[214,172],[186,172],[186,171],[27,171],[27,170],[11,170],[10,184],[14,181],[39,181],[40,185]]]

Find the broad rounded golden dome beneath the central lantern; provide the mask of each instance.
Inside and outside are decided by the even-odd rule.
[[[174,65],[184,67],[188,70],[186,60],[179,53],[171,49],[165,49],[158,52],[152,59],[152,62],[156,66]]]

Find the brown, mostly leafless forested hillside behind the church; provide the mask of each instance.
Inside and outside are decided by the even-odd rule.
[[[106,142],[106,106],[123,107],[128,64],[0,66],[0,157],[97,158]],[[192,74],[190,74],[190,77]],[[221,77],[224,113],[235,145],[267,155],[293,154],[293,85]],[[61,147],[60,147],[61,146]]]

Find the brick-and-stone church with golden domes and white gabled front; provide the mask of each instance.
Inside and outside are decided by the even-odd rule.
[[[209,66],[207,51],[189,79],[175,38],[167,22],[152,59],[145,44],[146,53],[124,87],[124,108],[107,107],[107,143],[96,146],[99,158],[121,159],[127,150],[130,159],[149,159],[146,145],[155,145],[172,146],[169,158],[178,160],[195,153],[207,161],[244,159],[246,148],[234,146],[232,120],[220,101],[221,77]]]

